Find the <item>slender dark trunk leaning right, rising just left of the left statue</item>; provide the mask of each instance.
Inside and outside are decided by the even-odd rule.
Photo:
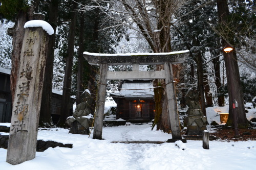
[[[70,96],[71,96],[71,82],[72,82],[72,66],[74,57],[74,44],[75,44],[75,26],[77,16],[77,3],[72,1],[71,21],[69,27],[68,39],[68,57],[66,58],[65,77],[63,81],[63,93],[61,100],[60,118],[57,123],[58,127],[65,127],[65,121],[70,116]]]

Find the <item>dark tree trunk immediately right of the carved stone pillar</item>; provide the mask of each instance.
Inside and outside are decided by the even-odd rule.
[[[39,117],[40,127],[52,127],[52,79],[53,79],[53,61],[54,61],[54,49],[55,49],[55,37],[57,27],[57,15],[58,15],[58,0],[52,0],[50,3],[49,11],[49,23],[54,30],[54,34],[49,37],[49,45],[46,58],[46,70],[44,86],[42,89],[42,102]]]

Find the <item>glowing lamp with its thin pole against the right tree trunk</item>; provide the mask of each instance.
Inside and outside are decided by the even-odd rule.
[[[228,79],[229,79],[229,86],[230,86],[230,94],[231,96],[229,97],[229,100],[232,101],[232,113],[233,113],[233,124],[234,124],[234,135],[238,136],[238,119],[237,119],[237,110],[236,108],[238,107],[238,103],[236,101],[236,99],[234,99],[234,89],[233,89],[233,73],[232,73],[232,67],[231,67],[231,58],[232,56],[230,55],[230,53],[234,50],[234,48],[227,44],[224,48],[223,48],[223,52],[227,53],[227,62],[228,62],[228,69],[226,69],[228,71]]]

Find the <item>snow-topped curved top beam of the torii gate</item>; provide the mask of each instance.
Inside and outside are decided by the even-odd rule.
[[[100,54],[84,52],[83,57],[91,65],[158,65],[164,63],[179,64],[185,61],[189,51],[179,51],[171,53],[131,53],[131,54]]]

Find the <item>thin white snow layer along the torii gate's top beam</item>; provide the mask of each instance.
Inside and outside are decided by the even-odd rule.
[[[154,56],[154,55],[170,55],[170,54],[181,54],[181,53],[187,53],[189,50],[184,51],[178,51],[178,52],[170,52],[170,53],[125,53],[125,54],[101,54],[101,53],[89,53],[89,52],[83,52],[83,54],[90,55],[90,56]]]

